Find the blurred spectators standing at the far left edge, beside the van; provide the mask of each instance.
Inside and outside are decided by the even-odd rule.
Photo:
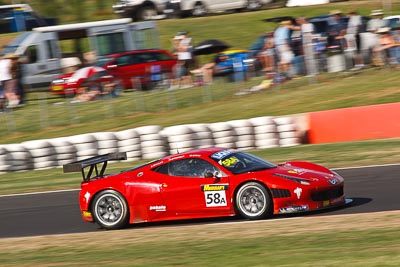
[[[21,62],[15,54],[0,56],[0,111],[24,105]]]

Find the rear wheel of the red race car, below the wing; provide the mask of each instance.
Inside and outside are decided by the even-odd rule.
[[[94,198],[92,214],[95,222],[107,230],[123,228],[129,219],[125,198],[114,190],[102,191]]]

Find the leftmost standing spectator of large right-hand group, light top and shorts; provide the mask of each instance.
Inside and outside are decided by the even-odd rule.
[[[278,56],[278,68],[282,73],[288,73],[290,69],[290,62],[294,54],[290,46],[290,20],[282,21],[280,26],[274,32],[274,44]]]

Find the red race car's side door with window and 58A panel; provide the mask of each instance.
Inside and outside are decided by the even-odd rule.
[[[200,158],[180,159],[157,170],[161,194],[176,217],[227,215],[231,210],[229,177]],[[215,174],[219,173],[219,178]],[[212,176],[212,177],[211,177]]]

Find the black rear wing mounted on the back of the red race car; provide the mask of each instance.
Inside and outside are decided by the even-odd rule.
[[[108,161],[126,159],[127,157],[125,152],[109,153],[65,164],[63,170],[64,173],[81,172],[83,181],[89,181],[92,178],[102,177],[104,175]],[[87,173],[85,173],[86,168],[89,168]]]

